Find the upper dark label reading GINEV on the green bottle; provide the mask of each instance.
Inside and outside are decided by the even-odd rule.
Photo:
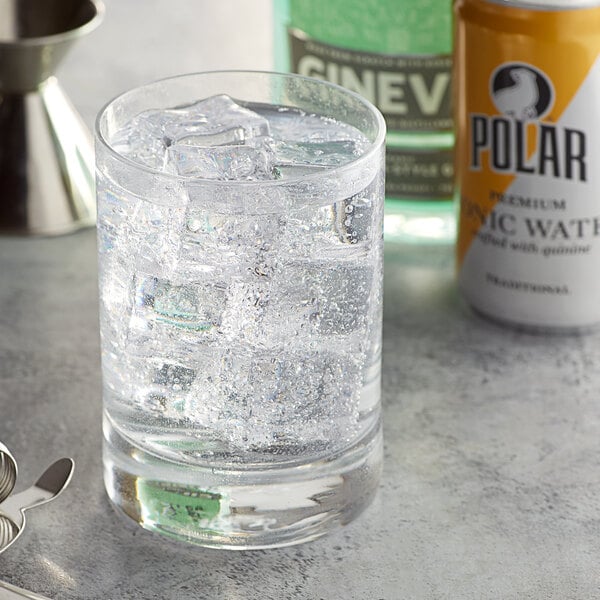
[[[392,55],[331,46],[288,30],[295,73],[337,83],[371,101],[389,130],[452,128],[448,55]]]

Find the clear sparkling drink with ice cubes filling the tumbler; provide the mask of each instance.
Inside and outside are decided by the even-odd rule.
[[[141,112],[108,141],[176,182],[149,199],[135,177],[98,172],[113,471],[160,481],[163,495],[165,481],[198,493],[194,468],[293,470],[370,443],[383,175],[343,172],[370,142],[331,118],[225,95]],[[200,493],[222,503],[223,487]]]

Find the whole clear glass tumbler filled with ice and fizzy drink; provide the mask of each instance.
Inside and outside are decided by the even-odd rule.
[[[179,76],[96,125],[105,483],[143,527],[285,546],[381,471],[385,125],[296,75]]]

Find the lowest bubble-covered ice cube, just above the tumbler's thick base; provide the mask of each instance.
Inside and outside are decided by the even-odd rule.
[[[324,449],[355,431],[361,367],[352,355],[320,349],[223,356],[213,427],[254,451]]]

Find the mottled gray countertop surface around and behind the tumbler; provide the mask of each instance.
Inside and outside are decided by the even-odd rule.
[[[59,73],[90,124],[156,77],[270,67],[266,1],[106,4]],[[77,465],[0,578],[63,600],[600,598],[600,334],[502,329],[460,301],[450,248],[388,245],[374,503],[311,544],[205,550],[105,496],[95,251],[93,230],[0,238],[0,439],[19,488],[60,456]]]

